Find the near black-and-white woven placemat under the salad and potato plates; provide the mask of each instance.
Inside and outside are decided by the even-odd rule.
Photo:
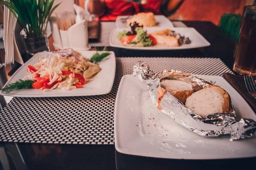
[[[116,77],[109,94],[13,98],[0,112],[0,142],[113,144],[116,92],[122,76],[132,74],[137,61],[148,62],[155,72],[177,69],[219,76],[231,72],[221,59],[215,58],[116,58]]]

